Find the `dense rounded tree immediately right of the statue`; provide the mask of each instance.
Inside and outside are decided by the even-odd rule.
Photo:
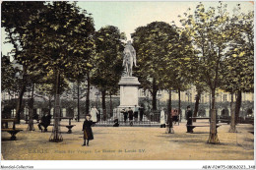
[[[137,53],[135,75],[145,90],[153,96],[153,109],[157,109],[156,95],[164,88],[161,78],[168,77],[165,73],[171,67],[170,58],[177,43],[178,33],[175,28],[163,22],[154,22],[146,27],[136,28],[132,34],[133,44]]]

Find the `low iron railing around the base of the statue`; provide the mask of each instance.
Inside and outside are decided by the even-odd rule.
[[[102,111],[97,114],[97,123],[99,125],[113,125],[114,120],[118,119],[120,126],[129,125],[129,116],[125,120],[124,114],[121,113],[121,109],[114,109],[112,116],[109,111],[106,111],[105,115]],[[133,125],[159,125],[160,124],[160,111],[149,111],[144,114],[138,113],[138,117],[133,116]]]

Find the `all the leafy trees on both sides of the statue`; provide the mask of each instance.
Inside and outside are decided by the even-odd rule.
[[[179,16],[182,28],[174,23],[154,22],[135,29],[132,38],[139,67],[134,75],[151,92],[154,110],[160,89],[169,92],[170,111],[171,91],[176,90],[180,96],[180,91],[195,85],[198,94],[194,115],[200,95],[211,92],[211,119],[215,123],[211,125],[209,142],[218,142],[217,89],[237,93],[236,119],[241,92],[253,91],[253,12],[241,13],[238,4],[230,15],[220,2],[217,8],[209,9],[200,3],[191,13],[188,9]],[[44,94],[55,94],[58,101],[59,94],[67,91],[68,83],[75,83],[79,105],[80,86],[86,81],[87,113],[91,85],[101,91],[103,110],[105,95],[111,98],[118,91],[125,34],[112,26],[96,31],[91,14],[82,11],[75,2],[3,2],[2,27],[8,34],[8,42],[14,45],[14,58],[23,66],[17,116],[25,90],[33,91],[34,85]],[[13,85],[8,78],[14,71],[3,69],[8,72],[2,72],[6,74],[2,78],[7,79],[2,87],[8,89]],[[105,112],[103,115],[106,118]]]

